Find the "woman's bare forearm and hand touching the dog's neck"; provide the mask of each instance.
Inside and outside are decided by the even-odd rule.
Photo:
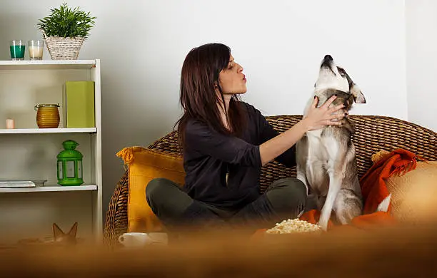
[[[335,98],[336,96],[333,96],[319,108],[316,108],[318,100],[317,98],[314,98],[305,118],[275,138],[271,138],[265,143],[262,143],[259,146],[261,164],[265,165],[269,161],[277,158],[278,155],[281,155],[296,144],[309,130],[323,128],[325,125],[340,125],[340,122],[333,120],[343,118],[344,114],[333,115],[333,113],[336,113],[336,111],[343,108],[343,105],[329,108],[329,105],[331,105]]]

